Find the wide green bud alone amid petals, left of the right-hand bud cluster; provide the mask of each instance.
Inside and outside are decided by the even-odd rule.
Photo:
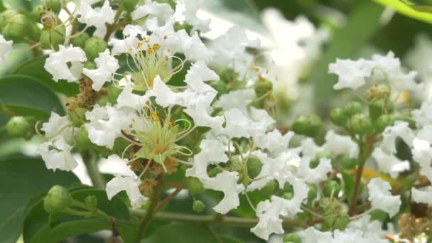
[[[309,114],[297,117],[291,126],[291,130],[296,134],[314,137],[319,134],[322,126],[323,121],[321,121],[320,117],[315,114]]]

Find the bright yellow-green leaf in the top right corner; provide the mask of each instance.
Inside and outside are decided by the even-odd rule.
[[[411,18],[415,18],[419,21],[424,21],[426,23],[432,23],[432,13],[428,13],[425,11],[425,10],[431,11],[431,9],[425,9],[424,8],[425,5],[423,5],[422,3],[415,4],[416,1],[411,1],[414,2],[414,4],[411,4],[409,6],[407,4],[404,4],[403,1],[397,1],[397,0],[374,0],[374,1],[384,6],[388,6],[394,9],[395,11],[404,14],[405,16],[409,16]],[[428,8],[431,8],[431,6],[428,6]]]

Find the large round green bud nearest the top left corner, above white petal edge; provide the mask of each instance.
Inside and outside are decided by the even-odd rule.
[[[3,28],[3,36],[6,40],[20,40],[24,36],[28,36],[31,31],[32,23],[28,17],[22,13],[17,13],[8,19]]]

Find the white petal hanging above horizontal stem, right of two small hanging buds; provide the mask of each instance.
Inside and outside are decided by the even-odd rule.
[[[244,190],[244,185],[237,184],[237,180],[239,180],[239,173],[222,171],[215,177],[205,178],[202,181],[205,188],[224,193],[224,198],[213,207],[215,212],[225,214],[240,205],[239,193]]]

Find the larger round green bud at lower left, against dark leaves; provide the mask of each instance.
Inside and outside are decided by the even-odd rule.
[[[48,213],[62,212],[72,205],[73,198],[69,190],[61,185],[54,185],[43,200],[43,207]]]

